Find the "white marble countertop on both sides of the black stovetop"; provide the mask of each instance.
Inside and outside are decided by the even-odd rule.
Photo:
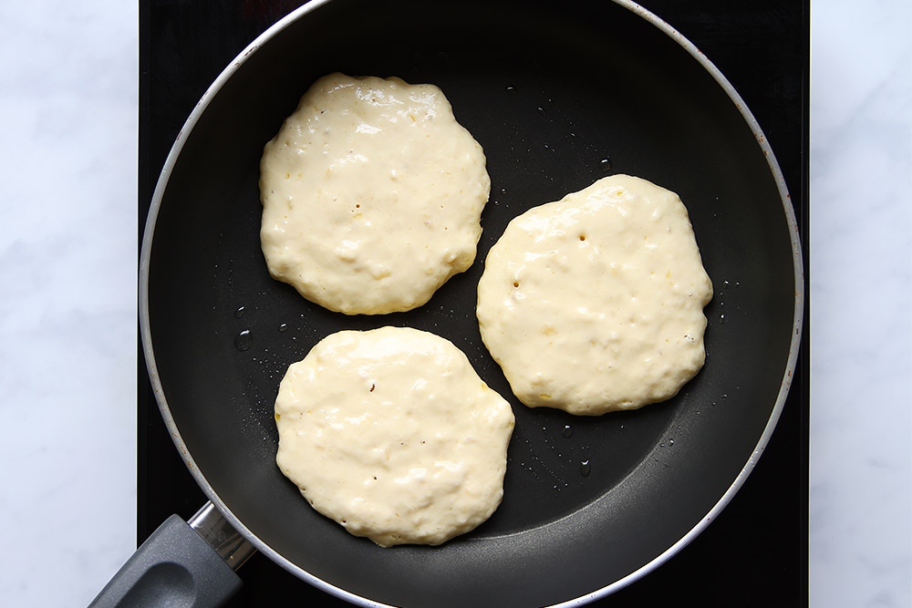
[[[0,603],[135,526],[137,8],[0,4]],[[912,5],[814,3],[811,605],[912,605]],[[771,582],[774,584],[774,582]]]

